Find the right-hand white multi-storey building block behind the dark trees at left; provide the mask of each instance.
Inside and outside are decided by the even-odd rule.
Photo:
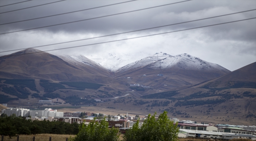
[[[63,117],[63,112],[57,112],[57,110],[52,110],[51,108],[46,108],[45,110],[30,110],[28,111],[29,116],[46,116],[46,117],[54,117],[59,116]]]

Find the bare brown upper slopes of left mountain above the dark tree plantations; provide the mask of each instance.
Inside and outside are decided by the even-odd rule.
[[[95,64],[79,66],[74,61],[69,62],[37,49],[26,49],[1,56],[0,78],[103,83],[98,77],[108,75],[106,69]]]

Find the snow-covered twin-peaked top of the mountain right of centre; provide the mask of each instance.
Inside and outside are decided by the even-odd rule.
[[[198,57],[194,57],[186,53],[171,56],[163,52],[156,53],[153,56],[125,65],[119,68],[116,72],[128,71],[130,69],[136,69],[146,65],[149,65],[148,69],[169,69],[175,66],[180,69],[187,70],[219,70],[226,73],[230,72],[220,65],[201,60]]]

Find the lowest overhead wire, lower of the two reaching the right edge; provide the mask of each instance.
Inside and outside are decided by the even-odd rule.
[[[201,26],[201,27],[193,27],[193,28],[189,28],[189,29],[182,29],[182,30],[177,30],[177,31],[151,34],[151,35],[145,35],[145,36],[139,36],[139,37],[133,37],[133,38],[126,38],[126,39],[121,39],[121,40],[114,40],[114,41],[107,41],[107,42],[100,42],[100,43],[92,43],[92,44],[79,45],[79,46],[74,46],[74,47],[65,47],[65,48],[61,48],[61,49],[71,49],[71,48],[75,48],[75,47],[84,47],[84,46],[89,46],[89,45],[98,45],[98,44],[102,44],[102,43],[118,42],[118,41],[124,41],[124,40],[136,39],[136,38],[143,38],[143,37],[148,37],[148,36],[174,33],[174,32],[179,32],[179,31],[187,31],[187,30],[191,30],[191,29],[198,29],[198,28],[202,28],[202,27],[210,27],[210,26],[215,26],[215,25],[222,25],[222,24],[228,24],[228,23],[233,23],[233,22],[240,22],[240,21],[251,20],[251,19],[255,19],[255,18],[248,18],[248,19],[244,19],[244,20],[236,20],[236,21],[232,21],[232,22],[224,22],[224,23],[221,23],[221,24],[206,25],[206,26]],[[56,51],[56,50],[61,50],[61,49],[51,49],[51,50],[47,50],[47,51]],[[46,51],[31,52],[31,53],[26,53],[26,54],[39,53],[39,52],[46,52]],[[8,57],[10,57],[10,56],[19,56],[19,55],[25,55],[25,54],[13,54],[13,55],[8,55]],[[5,56],[0,56],[0,58],[4,58],[4,57],[6,57],[6,55]]]

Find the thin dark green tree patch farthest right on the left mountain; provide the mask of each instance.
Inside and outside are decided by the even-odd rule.
[[[78,89],[99,89],[101,86],[105,86],[102,84],[96,83],[88,83],[88,82],[60,82],[61,84],[68,85],[70,87],[78,88]]]

